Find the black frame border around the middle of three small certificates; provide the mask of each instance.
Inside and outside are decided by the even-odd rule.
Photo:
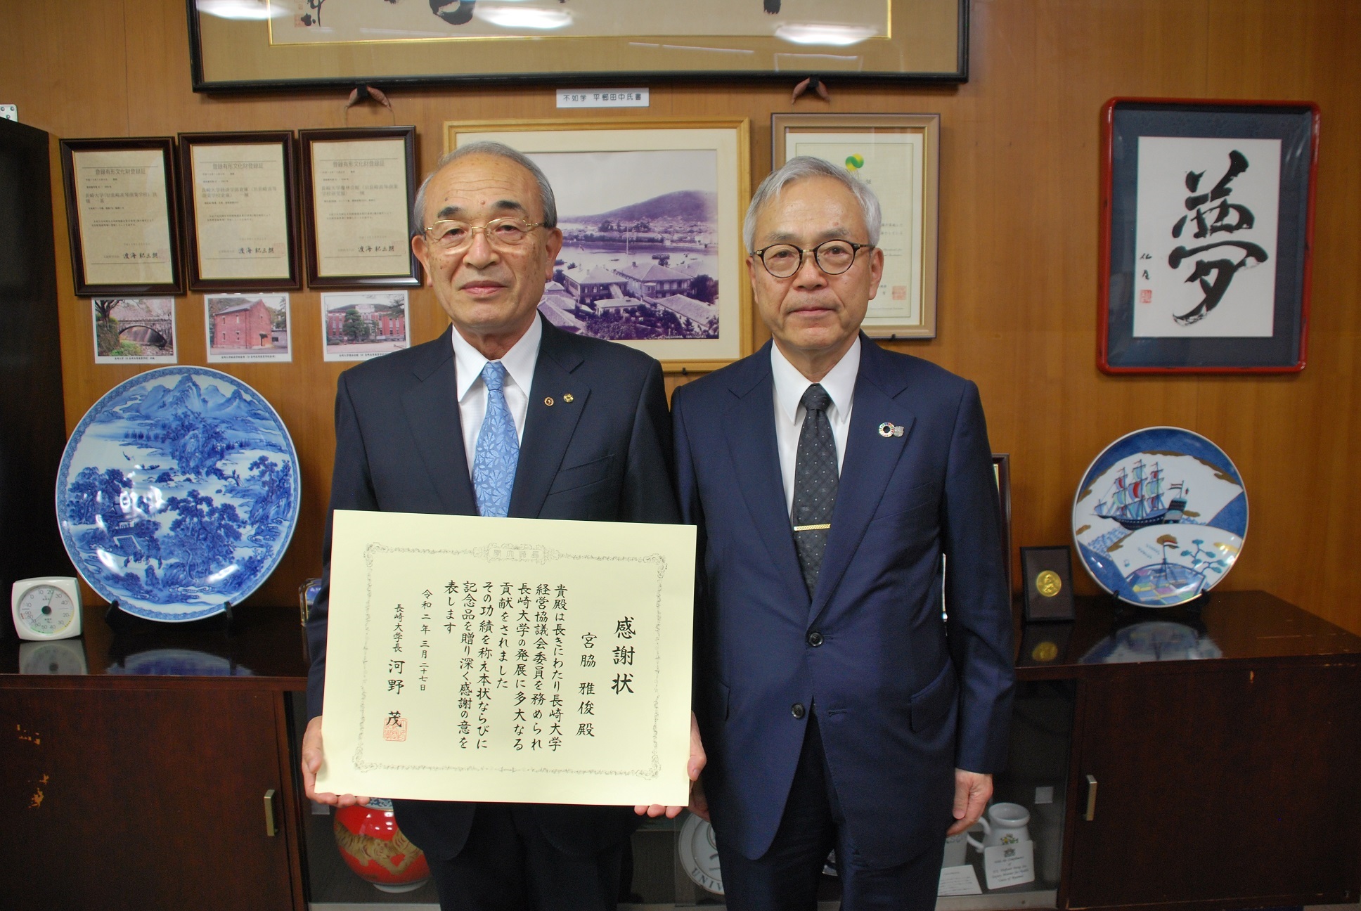
[[[196,146],[279,146],[283,159],[283,195],[287,252],[287,275],[275,278],[203,278],[199,256],[199,223],[195,196],[193,150]],[[184,207],[185,259],[189,267],[189,290],[206,293],[291,291],[302,287],[298,253],[298,181],[297,151],[293,131],[180,133],[180,199]]]

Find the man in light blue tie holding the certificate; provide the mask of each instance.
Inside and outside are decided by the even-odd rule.
[[[676,522],[660,365],[539,317],[562,248],[543,172],[498,143],[464,146],[440,159],[412,215],[411,246],[452,325],[340,374],[331,509]],[[344,806],[362,798],[314,793],[329,519],[323,558],[308,621],[302,778],[308,797]],[[702,764],[695,744],[691,779]],[[637,827],[633,808],[393,805],[397,825],[425,850],[446,911],[612,910],[623,846]]]

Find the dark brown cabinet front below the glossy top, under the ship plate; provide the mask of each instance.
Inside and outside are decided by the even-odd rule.
[[[1066,907],[1356,901],[1361,667],[1218,663],[1079,684]]]

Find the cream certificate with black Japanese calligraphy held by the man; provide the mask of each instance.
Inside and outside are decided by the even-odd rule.
[[[317,790],[689,799],[691,526],[335,512]]]

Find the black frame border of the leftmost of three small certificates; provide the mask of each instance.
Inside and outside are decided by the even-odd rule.
[[[165,219],[167,223],[167,259],[170,266],[169,282],[101,282],[86,268],[86,241],[90,233],[82,225],[82,208],[79,204],[76,155],[82,153],[136,153],[148,151],[161,154],[162,174],[165,177],[163,195]],[[67,233],[71,240],[71,272],[75,279],[75,293],[79,297],[118,297],[118,295],[146,295],[157,297],[165,294],[184,294],[184,267],[180,259],[180,202],[178,178],[176,174],[174,138],[171,136],[133,136],[118,139],[63,139],[61,140],[61,178],[67,199]],[[158,260],[163,261],[163,260]]]

